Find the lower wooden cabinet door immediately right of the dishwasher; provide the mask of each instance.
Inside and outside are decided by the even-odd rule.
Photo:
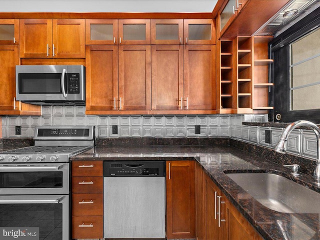
[[[166,162],[166,237],[195,237],[194,161]]]

